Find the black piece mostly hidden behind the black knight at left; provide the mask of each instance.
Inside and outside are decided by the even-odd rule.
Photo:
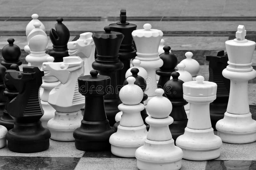
[[[17,64],[12,64],[10,66],[10,70],[20,71],[19,66]],[[7,130],[10,130],[14,126],[14,120],[8,114],[8,112],[6,110],[6,106],[19,93],[18,93],[17,89],[14,87],[14,85],[7,83],[7,79],[5,77],[4,77],[4,85],[5,85],[6,89],[3,91],[3,95],[7,98],[7,101],[6,101],[6,104],[5,104],[3,115],[0,117],[0,125],[3,125],[5,128],[7,128]]]

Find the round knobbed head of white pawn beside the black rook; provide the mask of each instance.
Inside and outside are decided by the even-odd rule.
[[[119,98],[123,104],[137,105],[143,98],[143,91],[139,86],[134,84],[136,80],[134,77],[127,77],[126,80],[128,84],[119,91]]]

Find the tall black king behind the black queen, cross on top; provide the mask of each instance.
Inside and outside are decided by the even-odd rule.
[[[120,61],[124,64],[124,68],[116,72],[117,85],[123,86],[125,80],[125,73],[130,68],[130,61],[136,57],[136,50],[132,46],[132,31],[136,30],[137,25],[126,22],[126,10],[120,11],[120,21],[109,24],[111,31],[116,31],[124,34],[124,39],[121,43],[118,55]]]

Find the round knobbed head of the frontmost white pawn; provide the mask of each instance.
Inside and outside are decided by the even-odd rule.
[[[163,119],[172,112],[172,103],[166,97],[163,97],[164,90],[156,89],[156,97],[151,98],[147,104],[148,114],[152,118]]]

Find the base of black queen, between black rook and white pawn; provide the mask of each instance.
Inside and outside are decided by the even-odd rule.
[[[122,102],[119,98],[104,100],[105,111],[106,111],[107,119],[109,121],[110,126],[114,126],[114,124],[116,123],[115,117],[116,117],[116,113],[120,112],[118,110],[118,105],[121,103]]]

